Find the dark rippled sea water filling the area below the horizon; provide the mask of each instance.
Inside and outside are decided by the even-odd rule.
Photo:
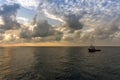
[[[120,47],[0,48],[0,80],[120,80]]]

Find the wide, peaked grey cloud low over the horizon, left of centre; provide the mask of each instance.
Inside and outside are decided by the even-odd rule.
[[[62,33],[56,31],[46,20],[38,21],[32,29],[23,27],[20,31],[20,38],[34,40],[61,40]]]

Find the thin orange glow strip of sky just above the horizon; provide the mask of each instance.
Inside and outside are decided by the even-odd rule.
[[[78,43],[70,43],[70,42],[37,42],[37,43],[9,43],[9,44],[1,44],[1,47],[10,47],[10,46],[87,46],[88,44],[78,44]]]

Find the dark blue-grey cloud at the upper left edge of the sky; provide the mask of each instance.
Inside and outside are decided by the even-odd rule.
[[[9,30],[20,27],[20,24],[16,21],[16,14],[19,8],[18,4],[4,4],[0,6],[0,16],[4,21],[4,25],[0,25],[0,29]]]

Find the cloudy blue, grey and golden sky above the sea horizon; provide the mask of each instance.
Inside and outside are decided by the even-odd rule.
[[[0,43],[120,45],[119,39],[120,0],[0,0]]]

